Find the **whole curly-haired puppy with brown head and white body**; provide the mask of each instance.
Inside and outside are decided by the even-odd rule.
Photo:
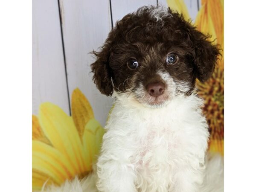
[[[101,192],[198,192],[209,137],[195,81],[214,71],[219,48],[163,7],[144,6],[116,23],[91,64],[113,96],[96,163]]]

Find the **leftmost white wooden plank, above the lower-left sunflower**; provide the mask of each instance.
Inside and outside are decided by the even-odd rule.
[[[42,102],[69,111],[57,0],[32,1],[32,113]]]

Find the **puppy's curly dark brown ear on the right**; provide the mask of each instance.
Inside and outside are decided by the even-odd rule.
[[[190,35],[195,50],[196,77],[199,81],[204,82],[212,76],[218,56],[221,55],[220,48],[219,45],[213,45],[209,41],[209,36],[196,29],[193,29]]]

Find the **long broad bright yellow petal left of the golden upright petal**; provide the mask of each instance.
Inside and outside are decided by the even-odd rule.
[[[64,154],[75,172],[87,171],[84,150],[72,117],[52,103],[41,104],[38,117],[52,146]]]

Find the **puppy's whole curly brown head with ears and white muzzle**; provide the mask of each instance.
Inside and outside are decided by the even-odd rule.
[[[182,15],[145,6],[116,23],[100,52],[93,80],[101,93],[125,95],[149,107],[189,95],[214,71],[219,49]]]

